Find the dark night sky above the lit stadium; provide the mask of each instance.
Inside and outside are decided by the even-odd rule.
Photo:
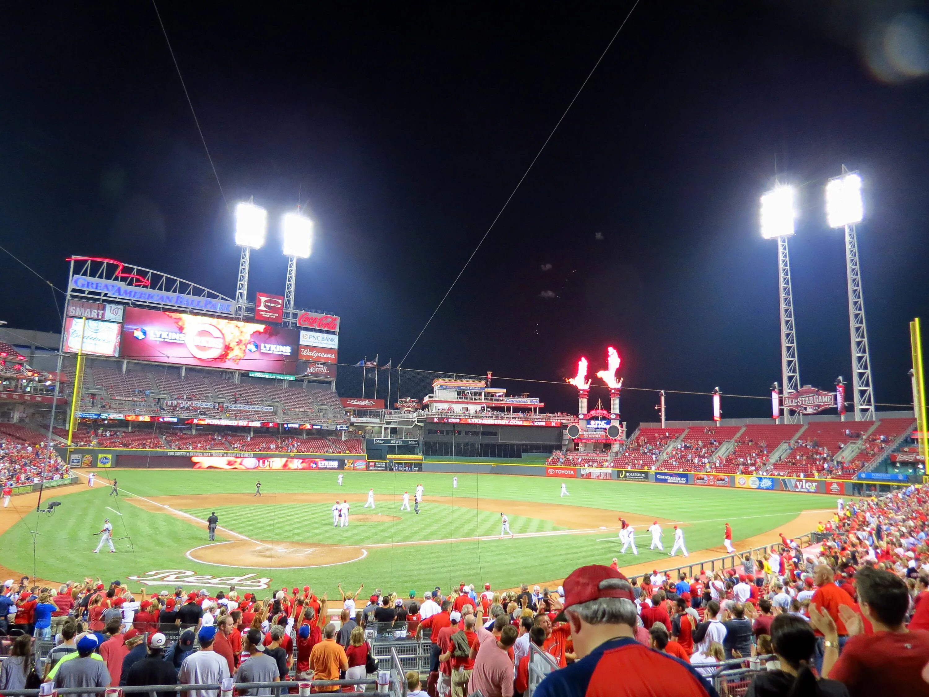
[[[630,7],[160,0],[226,199],[270,213],[252,293],[283,290],[276,221],[300,192],[318,234],[297,304],[341,315],[340,362],[396,365]],[[78,254],[234,295],[232,220],[151,5],[7,5],[0,21],[7,250],[59,288]],[[822,189],[845,164],[866,186],[877,401],[909,402],[907,322],[929,315],[927,73],[923,3],[642,0],[404,367],[560,380],[615,345],[626,388],[764,397],[779,314],[758,197],[777,174],[800,187],[801,379],[831,388],[851,359]],[[57,330],[47,285],[0,258],[0,319]],[[630,422],[654,418],[653,393],[623,400]],[[710,410],[668,398],[669,418]]]

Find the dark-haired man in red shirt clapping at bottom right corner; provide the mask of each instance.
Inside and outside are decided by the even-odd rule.
[[[893,573],[864,567],[857,572],[857,591],[874,634],[864,634],[862,618],[850,606],[841,607],[850,637],[841,656],[836,623],[810,608],[811,622],[827,645],[822,677],[844,683],[851,697],[926,694],[922,668],[929,663],[929,632],[910,632],[903,625],[909,609],[906,583]]]

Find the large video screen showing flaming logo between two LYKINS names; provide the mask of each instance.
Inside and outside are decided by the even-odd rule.
[[[293,374],[295,329],[181,312],[126,308],[123,358]]]

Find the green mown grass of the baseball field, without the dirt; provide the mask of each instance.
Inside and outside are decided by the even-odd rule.
[[[106,475],[107,473],[102,473]],[[193,470],[114,470],[124,492],[120,500],[109,495],[108,486],[95,487],[60,497],[62,505],[53,517],[21,511],[22,518],[0,536],[0,563],[10,569],[38,576],[67,580],[100,575],[105,582],[125,580],[161,570],[184,570],[211,576],[254,573],[271,577],[273,584],[311,584],[318,592],[336,592],[336,584],[389,588],[419,593],[427,587],[457,585],[461,581],[494,587],[520,582],[542,582],[561,578],[585,563],[608,563],[620,546],[610,540],[616,531],[568,534],[522,539],[483,539],[444,542],[435,545],[383,546],[385,543],[416,540],[449,540],[497,535],[500,511],[480,502],[490,499],[530,502],[539,517],[508,514],[514,533],[542,533],[561,528],[545,519],[547,505],[569,504],[589,508],[639,513],[648,517],[687,521],[687,548],[719,546],[722,519],[730,520],[738,546],[740,539],[776,530],[779,525],[808,509],[835,506],[835,498],[804,493],[760,492],[745,489],[674,486],[627,481],[568,480],[570,496],[559,498],[563,480],[500,475],[458,475],[452,490],[451,474],[343,472],[339,487],[334,472],[243,472]],[[265,504],[229,505],[230,493],[254,493],[260,478]],[[417,483],[425,487],[422,513],[399,512],[399,500],[388,502],[388,494],[408,491]],[[376,513],[399,516],[390,522],[351,523],[335,529],[331,506],[345,494],[363,494],[372,488],[377,496]],[[286,493],[326,493],[330,503],[268,505],[268,497]],[[134,495],[158,497],[184,494],[213,494],[209,506],[185,512],[205,519],[216,510],[220,524],[255,540],[294,541],[346,545],[382,545],[368,549],[365,559],[332,567],[299,570],[225,568],[188,559],[188,550],[208,544],[204,526],[193,520],[177,519],[150,512],[129,503]],[[478,501],[477,507],[451,506],[441,496]],[[54,493],[52,493],[54,497]],[[283,498],[283,497],[282,497]],[[412,496],[411,496],[412,498]],[[13,499],[13,505],[16,497]],[[352,504],[352,514],[370,513],[361,503]],[[122,515],[120,515],[122,514]],[[117,540],[117,554],[93,554],[104,517],[110,518]],[[33,531],[34,559],[33,559]],[[671,531],[665,534],[670,547]],[[216,534],[216,540],[232,539]],[[605,541],[606,540],[606,541]],[[627,555],[624,563],[655,560],[667,566],[667,554],[648,551],[648,534],[638,530],[638,557]],[[235,559],[229,559],[235,563]],[[34,566],[33,566],[34,564]],[[135,585],[133,582],[132,585]],[[174,585],[173,583],[171,584]],[[186,585],[196,585],[189,583]],[[157,587],[157,586],[156,586]],[[164,587],[164,586],[161,586]],[[160,589],[160,587],[159,587]]]

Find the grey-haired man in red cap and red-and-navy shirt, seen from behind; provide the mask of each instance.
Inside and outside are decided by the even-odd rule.
[[[535,697],[718,697],[696,670],[635,641],[632,585],[608,566],[565,579],[565,616],[579,660],[550,673]]]

